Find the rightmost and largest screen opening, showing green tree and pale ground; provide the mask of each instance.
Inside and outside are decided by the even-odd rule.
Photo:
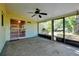
[[[65,39],[79,41],[79,23],[77,23],[78,19],[76,16],[65,18]]]

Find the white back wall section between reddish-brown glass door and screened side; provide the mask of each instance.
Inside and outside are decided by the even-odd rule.
[[[35,37],[37,36],[37,23],[27,23],[26,24],[26,37]]]

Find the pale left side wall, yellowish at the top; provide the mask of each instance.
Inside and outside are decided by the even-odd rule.
[[[4,28],[4,26],[2,26],[2,18],[1,18],[2,11],[5,13],[4,4],[0,4],[0,52],[2,51],[4,44],[6,42],[6,40],[5,40],[5,28]]]

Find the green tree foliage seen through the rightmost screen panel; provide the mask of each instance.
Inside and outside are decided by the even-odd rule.
[[[66,18],[65,28],[68,29],[68,32],[73,32],[75,25],[76,25],[76,17],[75,16],[71,16],[71,17]]]

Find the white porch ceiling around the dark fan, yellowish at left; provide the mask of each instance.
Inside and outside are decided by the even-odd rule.
[[[32,19],[37,21],[42,21],[50,17],[55,17],[63,15],[79,9],[79,3],[7,3],[7,11],[10,13],[20,14],[22,16],[27,16],[32,18],[32,14],[27,12],[34,12],[36,8],[41,9],[41,12],[48,13],[47,16],[39,18],[38,16],[33,17]]]

